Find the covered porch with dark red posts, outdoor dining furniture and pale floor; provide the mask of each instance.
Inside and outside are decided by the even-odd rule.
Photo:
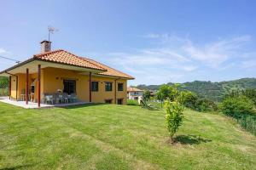
[[[91,74],[95,72],[40,60],[17,65],[4,73],[9,76],[9,99],[1,101],[24,108],[90,103]],[[77,95],[78,91],[83,96]]]

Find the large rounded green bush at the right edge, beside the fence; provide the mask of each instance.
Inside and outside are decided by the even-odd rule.
[[[227,116],[239,118],[243,114],[253,112],[253,101],[244,95],[227,97],[220,104],[220,110]]]

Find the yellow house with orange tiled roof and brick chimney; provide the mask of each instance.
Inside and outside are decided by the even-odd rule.
[[[134,79],[107,65],[65,50],[50,50],[41,42],[41,54],[0,72],[9,77],[9,98],[44,102],[46,94],[75,94],[84,102],[126,104],[127,80]]]

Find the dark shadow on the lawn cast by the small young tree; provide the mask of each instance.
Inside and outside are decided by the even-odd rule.
[[[174,143],[180,144],[201,144],[211,142],[210,139],[202,139],[200,136],[196,135],[178,135],[174,138]]]

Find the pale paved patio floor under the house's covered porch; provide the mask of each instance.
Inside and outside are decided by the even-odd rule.
[[[28,102],[28,105],[26,105],[26,101],[16,101],[16,100],[10,100],[9,97],[0,97],[0,102],[15,105],[19,107],[23,107],[26,109],[38,109],[38,103]],[[66,107],[71,105],[84,105],[88,104],[89,102],[84,101],[78,101],[75,103],[68,103],[68,104],[56,104],[56,105],[48,105],[48,104],[41,104],[40,108],[49,108],[49,107]]]

